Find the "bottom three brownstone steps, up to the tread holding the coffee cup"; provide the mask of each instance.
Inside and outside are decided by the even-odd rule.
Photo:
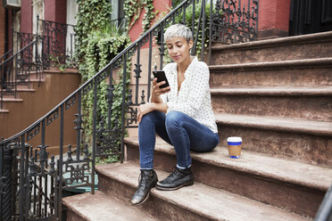
[[[139,176],[137,138],[126,138],[126,146],[128,161],[97,166],[99,192],[63,200],[67,220],[118,220],[104,214],[117,214],[120,208],[130,215],[140,209],[144,215],[137,215],[137,220],[150,220],[149,216],[155,220],[311,220],[332,182],[329,168],[251,151],[234,160],[228,158],[225,146],[218,146],[212,152],[192,152],[193,186],[172,192],[154,188],[148,201],[133,207],[129,201]],[[154,167],[162,180],[176,163],[175,151],[158,138],[154,154]],[[106,200],[99,201],[100,195]],[[111,201],[117,202],[114,209],[107,206]],[[103,212],[97,212],[95,219],[98,209]],[[150,214],[146,219],[145,213]]]

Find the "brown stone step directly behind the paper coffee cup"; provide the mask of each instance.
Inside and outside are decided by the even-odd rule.
[[[220,143],[241,136],[243,148],[332,168],[332,122],[238,114],[215,114]]]

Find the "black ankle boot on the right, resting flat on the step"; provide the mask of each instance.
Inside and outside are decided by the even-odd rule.
[[[175,171],[161,182],[158,182],[156,187],[158,190],[162,191],[173,191],[178,190],[182,186],[188,186],[192,184],[194,184],[194,176],[191,168],[175,168]]]

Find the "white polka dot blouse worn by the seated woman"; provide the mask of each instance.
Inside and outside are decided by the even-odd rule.
[[[191,61],[179,92],[177,63],[169,63],[163,70],[170,83],[170,92],[161,95],[162,102],[168,106],[167,113],[181,111],[203,126],[209,127],[212,132],[218,133],[212,111],[209,86],[210,71],[206,63],[198,61],[197,57]]]

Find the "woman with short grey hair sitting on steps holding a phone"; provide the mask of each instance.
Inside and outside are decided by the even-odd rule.
[[[164,67],[170,86],[153,81],[150,102],[138,108],[138,142],[141,175],[131,202],[142,204],[151,188],[177,190],[194,184],[192,151],[212,151],[219,143],[218,129],[211,105],[210,72],[206,63],[190,56],[193,34],[181,24],[170,26],[164,34],[172,63]],[[174,146],[175,171],[158,182],[154,172],[155,135]]]

